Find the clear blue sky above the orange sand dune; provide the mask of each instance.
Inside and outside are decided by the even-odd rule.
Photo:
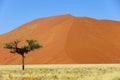
[[[63,14],[120,21],[120,0],[0,0],[0,34]]]

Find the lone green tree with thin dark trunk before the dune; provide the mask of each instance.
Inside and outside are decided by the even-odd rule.
[[[35,49],[41,48],[42,45],[37,43],[36,40],[26,40],[27,45],[18,47],[19,42],[20,41],[15,40],[13,42],[6,43],[4,48],[10,49],[10,53],[13,53],[13,54],[17,53],[22,56],[22,70],[24,70],[24,58],[25,58],[24,54],[25,53],[27,54],[28,52],[33,51]]]

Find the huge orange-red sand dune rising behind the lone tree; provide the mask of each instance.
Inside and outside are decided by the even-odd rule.
[[[21,64],[3,46],[36,39],[43,48],[25,56],[26,64],[120,63],[120,22],[69,14],[36,19],[0,35],[0,64]],[[24,43],[21,43],[24,44]]]

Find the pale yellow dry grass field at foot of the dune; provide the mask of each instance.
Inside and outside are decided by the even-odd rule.
[[[0,80],[120,80],[120,64],[0,65]]]

